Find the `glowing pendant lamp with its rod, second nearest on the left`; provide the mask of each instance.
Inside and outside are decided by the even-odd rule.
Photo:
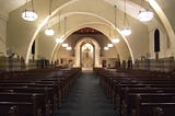
[[[49,5],[49,19],[48,19],[48,22],[47,22],[48,28],[45,30],[45,34],[48,35],[48,36],[52,36],[55,34],[55,31],[49,27],[49,23],[51,23],[50,18],[51,18],[51,0],[50,0],[50,5]]]

